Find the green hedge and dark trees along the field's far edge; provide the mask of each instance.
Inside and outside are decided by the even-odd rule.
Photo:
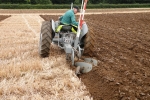
[[[68,9],[82,0],[0,0],[1,9]],[[87,8],[149,8],[150,0],[88,0]]]

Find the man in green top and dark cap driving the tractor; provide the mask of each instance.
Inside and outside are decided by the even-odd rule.
[[[73,9],[65,12],[65,14],[59,18],[60,26],[58,26],[56,32],[59,32],[63,25],[70,25],[72,26],[71,31],[77,33],[79,23],[76,21],[75,14],[77,14],[78,12],[80,12],[78,6],[74,6]]]

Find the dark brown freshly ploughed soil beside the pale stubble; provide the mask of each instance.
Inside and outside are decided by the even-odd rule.
[[[93,14],[85,21],[99,64],[79,78],[94,100],[150,100],[150,13]]]

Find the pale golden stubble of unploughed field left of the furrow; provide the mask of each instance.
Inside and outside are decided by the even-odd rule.
[[[23,17],[29,26],[21,15],[0,22],[0,99],[92,99],[59,48],[53,50],[56,56],[39,57],[39,21],[37,16]]]

